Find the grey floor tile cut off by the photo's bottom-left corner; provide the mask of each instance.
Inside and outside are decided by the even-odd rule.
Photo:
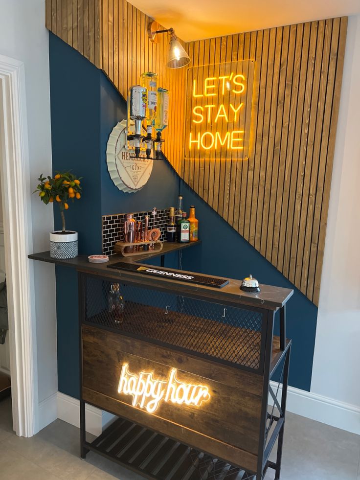
[[[2,480],[59,480],[3,443],[0,445],[0,468]]]

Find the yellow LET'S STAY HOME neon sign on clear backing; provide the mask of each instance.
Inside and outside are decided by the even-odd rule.
[[[185,158],[248,158],[254,71],[254,60],[189,69]]]

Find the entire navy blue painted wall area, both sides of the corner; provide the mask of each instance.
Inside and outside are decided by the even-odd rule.
[[[293,288],[180,181],[166,160],[154,162],[150,180],[141,191],[120,192],[107,170],[106,145],[114,125],[125,117],[125,101],[100,70],[51,33],[49,52],[53,170],[71,168],[84,177],[82,200],[70,204],[66,212],[67,228],[79,232],[80,253],[101,251],[101,215],[176,205],[181,191],[185,207],[197,207],[203,240],[201,246],[184,251],[184,269],[233,278],[251,273],[261,283]],[[60,228],[60,215],[54,208],[55,226]],[[169,256],[166,265],[176,267],[176,255]],[[71,269],[56,268],[58,389],[73,397],[79,395],[76,282]],[[290,384],[299,389],[310,389],[316,315],[316,307],[295,290],[288,306],[287,333],[293,339]]]

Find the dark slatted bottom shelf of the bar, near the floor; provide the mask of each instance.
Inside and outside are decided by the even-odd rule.
[[[84,446],[152,480],[253,480],[239,467],[118,418]]]

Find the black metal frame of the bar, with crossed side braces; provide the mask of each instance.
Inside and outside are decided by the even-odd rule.
[[[145,476],[148,479],[155,479],[155,477],[148,476],[144,472],[139,472],[136,468],[133,468],[130,464],[125,464],[124,462],[121,462],[119,459],[116,459],[110,455],[107,455],[106,453],[100,451],[96,447],[92,446],[89,442],[86,440],[86,417],[85,417],[85,407],[86,407],[86,402],[83,399],[83,393],[82,393],[82,381],[83,381],[83,350],[82,350],[82,325],[88,324],[88,325],[93,325],[91,322],[87,322],[85,320],[85,285],[86,285],[86,276],[92,276],[97,279],[104,279],[104,280],[110,280],[112,281],[112,277],[106,277],[106,276],[98,276],[98,275],[91,275],[91,274],[85,274],[85,273],[78,273],[78,288],[79,288],[79,372],[80,372],[80,457],[82,459],[86,458],[87,453],[89,451],[94,451],[103,457],[109,458],[115,462],[117,462],[120,465],[125,466],[126,468],[129,468],[130,470],[140,473],[141,475]],[[120,280],[120,279],[119,279]],[[121,281],[121,280],[120,280]],[[127,283],[129,285],[133,285],[132,282],[126,281],[123,283]],[[134,283],[135,286],[139,286],[138,284]],[[143,288],[147,288],[145,286],[142,286]],[[153,287],[151,287],[153,289]],[[161,288],[154,288],[155,290],[160,290],[164,291],[164,289]],[[165,290],[166,291],[166,290]],[[191,297],[191,298],[197,298],[197,299],[202,299],[199,298],[196,295],[191,295],[186,294],[186,297]],[[205,301],[212,301],[213,303],[218,303],[216,300],[211,300],[211,299],[206,299]],[[231,303],[226,303],[227,305]],[[236,305],[238,308],[238,305]],[[244,307],[247,307],[245,304]],[[286,345],[286,311],[285,311],[285,305],[280,309],[280,350],[282,350],[282,355],[278,359],[276,366],[273,367],[272,371],[270,371],[270,366],[271,366],[271,354],[272,354],[272,338],[273,338],[273,329],[274,329],[274,319],[275,319],[275,312],[270,311],[270,310],[265,310],[265,309],[260,309],[260,308],[248,308],[249,310],[253,311],[258,311],[263,313],[263,322],[262,322],[262,347],[261,347],[261,354],[262,354],[262,360],[260,361],[260,365],[264,365],[264,371],[263,371],[263,399],[262,399],[262,406],[261,406],[261,434],[260,434],[260,441],[259,441],[259,450],[258,450],[258,464],[257,464],[257,471],[256,472],[250,472],[248,473],[250,475],[256,476],[256,480],[263,480],[263,477],[266,474],[266,471],[268,468],[272,468],[275,470],[275,480],[280,480],[280,471],[281,471],[281,461],[282,461],[282,450],[283,450],[283,440],[284,440],[284,428],[285,428],[285,413],[286,413],[286,399],[287,399],[287,390],[288,390],[288,378],[289,378],[289,364],[290,364],[290,352],[291,352],[291,342],[289,342]],[[113,332],[119,333],[116,329],[113,329],[111,327],[106,327],[102,325],[99,328],[103,328],[106,330],[110,330]],[[129,335],[130,336],[130,335]],[[152,343],[157,343],[151,340]],[[161,344],[161,342],[159,342]],[[180,349],[182,350],[182,349]],[[196,352],[187,352],[191,354],[195,354]],[[207,357],[208,358],[208,357]],[[277,399],[276,399],[276,394],[273,394],[273,391],[270,386],[270,380],[272,376],[274,375],[275,371],[277,371],[278,367],[280,364],[284,361],[283,365],[283,383],[282,383],[282,393],[281,393],[281,403],[279,405]],[[216,359],[216,362],[221,362],[224,363],[224,361],[221,361],[221,359]],[[262,363],[263,362],[263,363]],[[225,362],[226,363],[226,362]],[[236,366],[235,364],[231,364],[231,366]],[[244,366],[238,366],[240,369],[245,369],[248,370],[248,367]],[[253,373],[257,373],[255,369],[250,370]],[[261,372],[258,372],[259,374]],[[280,377],[281,381],[281,377]],[[279,384],[280,384],[279,381]],[[265,394],[266,392],[266,394]],[[271,434],[271,437],[269,441],[267,442],[267,420],[269,418],[269,413],[268,413],[268,394],[269,392],[271,393],[271,396],[274,400],[275,405],[279,409],[280,415],[279,417],[272,415],[271,413],[271,418],[273,421],[276,421],[277,424],[275,426],[275,429],[273,433]],[[102,408],[98,405],[94,405],[95,407]],[[115,414],[114,412],[110,412]],[[156,432],[154,430],[154,432]],[[160,433],[160,432],[158,432]],[[170,438],[170,437],[169,437]],[[268,458],[270,456],[270,452],[273,449],[273,446],[275,444],[276,439],[278,438],[278,445],[277,445],[277,454],[276,454],[276,462],[271,462]],[[174,440],[178,440],[174,438]],[[179,440],[178,440],[179,441]],[[191,448],[198,448],[195,447],[194,445],[188,445]],[[208,455],[211,456],[211,453],[209,452],[204,452],[207,453]],[[226,461],[224,459],[224,461]],[[243,468],[241,465],[238,465],[238,467]]]

